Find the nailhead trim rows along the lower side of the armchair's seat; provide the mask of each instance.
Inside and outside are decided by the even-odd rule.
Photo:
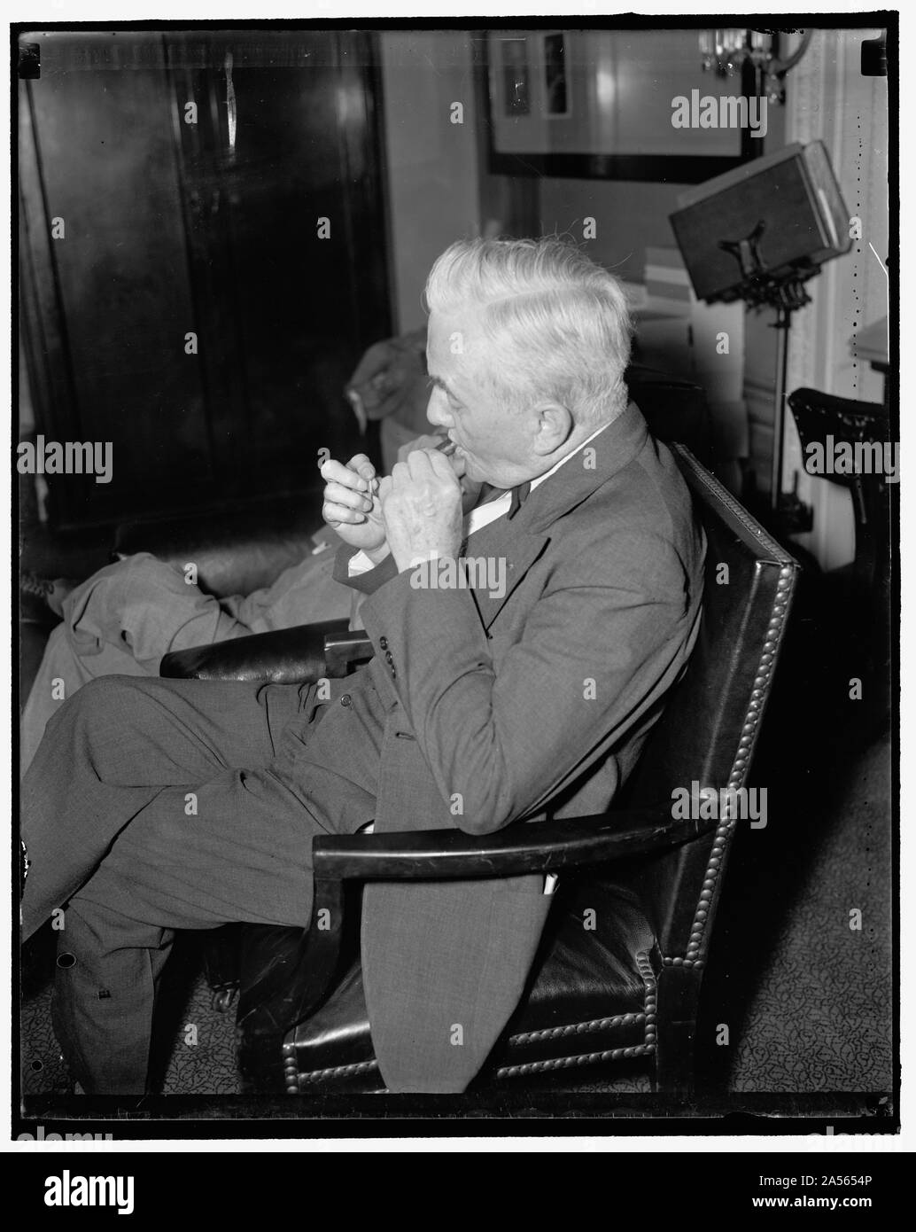
[[[641,1014],[616,1014],[613,1018],[593,1018],[587,1023],[570,1023],[568,1026],[550,1026],[540,1031],[522,1031],[520,1035],[510,1036],[510,1044],[528,1044],[540,1040],[561,1039],[569,1035],[579,1035],[586,1031],[598,1031],[605,1026],[617,1023],[645,1023],[644,1044],[635,1044],[628,1048],[608,1048],[605,1052],[586,1052],[575,1057],[558,1057],[548,1061],[528,1061],[520,1066],[504,1066],[496,1071],[497,1078],[517,1078],[522,1074],[544,1073],[548,1069],[565,1069],[570,1066],[598,1064],[602,1061],[619,1061],[623,1057],[644,1057],[655,1052],[657,1037],[656,1009],[657,986],[655,971],[649,960],[649,955],[640,950],[637,954],[637,966],[643,977],[644,1010]],[[283,1045],[283,1077],[288,1095],[298,1095],[309,1083],[316,1083],[325,1078],[355,1078],[358,1074],[373,1073],[378,1069],[378,1062],[357,1061],[350,1066],[334,1066],[329,1069],[313,1069],[309,1073],[299,1073],[295,1066],[295,1045]]]

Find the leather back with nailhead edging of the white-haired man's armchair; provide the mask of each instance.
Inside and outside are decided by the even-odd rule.
[[[688,450],[671,448],[707,535],[703,616],[687,670],[622,802],[671,808],[673,793],[686,791],[691,807],[703,809],[699,816],[717,816],[709,809],[718,809],[719,824],[710,834],[655,857],[639,876],[666,963],[702,966],[735,825],[751,824],[740,816],[742,797],[729,804],[721,788],[747,788],[799,565]]]

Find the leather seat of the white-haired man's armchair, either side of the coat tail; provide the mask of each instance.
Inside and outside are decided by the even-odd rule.
[[[518,1067],[555,1058],[651,1053],[660,967],[634,891],[593,872],[564,873],[526,993],[484,1077],[511,1078],[526,1072]],[[287,1035],[283,1058],[288,1090],[382,1090],[358,961]]]

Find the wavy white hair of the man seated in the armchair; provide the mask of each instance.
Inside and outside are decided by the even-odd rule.
[[[549,398],[591,426],[625,409],[627,301],[619,281],[571,244],[458,240],[430,271],[425,299],[443,315],[483,309],[484,335],[499,350],[481,375],[504,405]]]

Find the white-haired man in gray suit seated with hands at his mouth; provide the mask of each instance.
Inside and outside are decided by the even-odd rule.
[[[323,686],[92,681],[26,776],[23,933],[64,909],[54,1023],[85,1090],[145,1089],[175,929],[308,926],[316,834],[605,811],[687,663],[703,537],[628,403],[617,281],[558,240],[475,240],[436,261],[426,298],[428,419],[452,456],[416,451],[380,480],[364,456],[323,471],[372,662]],[[481,484],[468,514],[462,477]],[[424,584],[472,556],[500,563],[501,593]],[[389,1090],[467,1087],[521,995],[545,888],[366,887]]]

